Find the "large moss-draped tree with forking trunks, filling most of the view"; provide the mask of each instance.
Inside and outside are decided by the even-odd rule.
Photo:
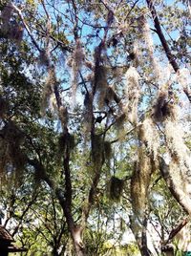
[[[155,177],[191,211],[188,2],[1,3],[1,173],[46,182],[76,255],[108,186],[142,255]]]

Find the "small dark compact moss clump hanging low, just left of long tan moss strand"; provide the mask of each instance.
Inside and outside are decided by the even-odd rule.
[[[124,181],[118,179],[115,176],[112,176],[110,180],[110,198],[114,201],[119,201],[121,195],[122,195],[122,190],[124,186]]]

